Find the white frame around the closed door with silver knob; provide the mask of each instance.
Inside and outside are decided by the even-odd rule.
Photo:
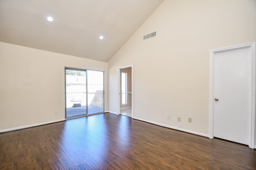
[[[224,47],[210,50],[210,107],[209,107],[209,138],[214,137],[214,54],[224,51],[250,48],[250,129],[249,129],[249,147],[254,149],[254,135],[255,135],[255,87],[256,87],[256,43],[246,43],[242,45],[235,45],[231,47]]]

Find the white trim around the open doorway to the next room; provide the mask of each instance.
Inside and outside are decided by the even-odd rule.
[[[120,115],[120,69],[132,68],[132,117],[133,117],[133,64],[120,66],[117,68],[117,115]]]

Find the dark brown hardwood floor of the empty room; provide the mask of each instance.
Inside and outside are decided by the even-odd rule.
[[[0,170],[256,169],[256,150],[123,115],[92,115],[0,134]]]

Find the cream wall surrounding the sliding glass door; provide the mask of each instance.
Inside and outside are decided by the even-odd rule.
[[[108,84],[107,63],[0,42],[0,132],[65,118],[65,66],[105,71]]]

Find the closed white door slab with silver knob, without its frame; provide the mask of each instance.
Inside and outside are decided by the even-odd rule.
[[[249,144],[251,49],[214,54],[214,137]]]

